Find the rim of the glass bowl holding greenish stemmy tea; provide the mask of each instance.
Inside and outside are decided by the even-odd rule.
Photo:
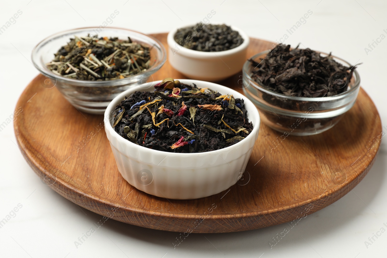
[[[34,46],[32,52],[31,52],[31,60],[32,60],[34,67],[43,75],[46,75],[50,78],[55,78],[55,80],[59,80],[59,81],[62,81],[64,83],[73,84],[73,85],[82,85],[85,87],[100,87],[100,86],[106,87],[106,86],[118,86],[118,85],[131,84],[134,81],[137,81],[136,77],[140,77],[140,76],[144,76],[144,75],[149,76],[152,73],[157,72],[164,65],[164,63],[167,60],[167,53],[166,53],[166,49],[164,48],[164,45],[158,39],[154,38],[153,36],[144,34],[144,33],[139,32],[139,31],[134,31],[131,29],[122,28],[122,27],[107,26],[107,27],[104,27],[103,30],[111,29],[111,30],[127,31],[129,33],[133,32],[135,34],[140,34],[142,36],[145,36],[145,37],[151,39],[152,41],[154,41],[156,43],[153,46],[158,48],[158,51],[161,53],[161,59],[157,60],[154,63],[154,65],[151,68],[147,69],[145,72],[137,73],[135,75],[132,75],[130,77],[126,77],[123,79],[102,80],[102,81],[79,80],[79,79],[71,79],[71,78],[63,77],[63,76],[60,76],[60,75],[53,73],[50,69],[47,68],[47,66],[45,64],[38,62],[40,55],[39,56],[37,55],[38,54],[37,51],[41,46],[44,46],[45,44],[49,44],[50,41],[52,41],[60,36],[63,36],[64,34],[67,34],[69,32],[74,31],[74,33],[76,33],[76,31],[92,30],[92,29],[100,29],[100,27],[95,27],[95,26],[78,27],[78,28],[74,28],[74,29],[67,29],[64,31],[59,31],[59,32],[56,32],[54,34],[51,34],[50,36],[47,36],[46,38],[41,40],[38,44],[36,44],[36,46]],[[100,34],[101,32],[98,32],[98,34]]]

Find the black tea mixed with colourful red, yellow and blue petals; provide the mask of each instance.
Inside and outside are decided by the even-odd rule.
[[[252,131],[243,99],[172,78],[154,92],[134,92],[117,106],[113,127],[154,150],[205,152],[233,145]]]

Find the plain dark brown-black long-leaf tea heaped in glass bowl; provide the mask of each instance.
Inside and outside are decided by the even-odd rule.
[[[345,67],[330,55],[298,46],[278,44],[261,62],[250,59],[256,67],[252,79],[266,89],[288,96],[329,97],[347,90],[356,67]]]

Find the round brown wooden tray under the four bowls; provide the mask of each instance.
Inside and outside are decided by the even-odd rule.
[[[152,36],[166,46],[166,35]],[[271,47],[252,39],[247,55]],[[185,78],[168,61],[153,80],[166,77]],[[219,84],[241,92],[241,79],[240,73]],[[378,111],[360,89],[354,107],[319,135],[281,141],[281,133],[262,124],[245,174],[228,190],[197,200],[167,200],[129,185],[118,172],[103,116],[80,113],[55,87],[43,87],[44,80],[36,77],[16,106],[22,112],[15,135],[29,165],[77,205],[152,229],[234,232],[296,223],[354,188],[372,166],[382,137]]]

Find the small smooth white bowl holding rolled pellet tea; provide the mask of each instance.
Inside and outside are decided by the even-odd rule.
[[[244,39],[243,43],[236,48],[218,51],[203,52],[184,48],[176,43],[173,37],[177,28],[168,33],[168,61],[173,68],[185,76],[196,80],[216,82],[226,79],[242,70],[247,56],[247,47],[250,39],[245,32],[231,26],[238,31]]]

